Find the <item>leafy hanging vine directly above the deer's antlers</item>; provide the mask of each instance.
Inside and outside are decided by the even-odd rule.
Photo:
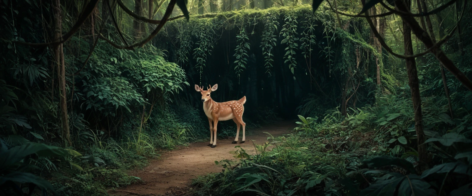
[[[200,81],[202,81],[203,67],[206,65],[208,54],[213,50],[213,30],[211,20],[196,20],[194,23],[194,34],[198,41],[195,43],[194,59],[197,64],[196,67],[200,71]]]

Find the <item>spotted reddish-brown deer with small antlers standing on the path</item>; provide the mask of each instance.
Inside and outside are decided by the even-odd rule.
[[[210,95],[211,92],[216,91],[216,89],[218,89],[218,84],[215,84],[214,86],[210,85],[210,88],[207,87],[206,91],[203,90],[203,86],[200,87],[195,85],[195,90],[202,94],[203,111],[205,111],[205,115],[210,124],[210,144],[208,144],[208,146],[211,148],[216,147],[218,121],[229,119],[233,119],[237,127],[236,138],[232,143],[235,144],[239,140],[239,129],[241,125],[243,125],[243,140],[240,143],[244,143],[244,141],[246,141],[246,123],[243,121],[243,105],[246,102],[246,96],[243,96],[243,98],[237,101],[215,102],[211,99]]]

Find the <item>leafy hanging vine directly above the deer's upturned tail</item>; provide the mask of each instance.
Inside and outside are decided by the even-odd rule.
[[[236,63],[235,70],[237,73],[237,78],[239,80],[239,77],[241,73],[243,72],[243,69],[246,69],[247,65],[247,51],[250,50],[249,43],[247,43],[247,40],[249,40],[249,37],[246,34],[246,30],[244,29],[244,26],[241,26],[239,34],[236,36],[236,49],[235,49],[235,54],[233,55],[236,57]]]

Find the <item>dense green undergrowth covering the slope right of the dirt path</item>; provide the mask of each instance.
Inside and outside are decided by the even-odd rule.
[[[464,127],[472,123],[472,108],[461,109],[462,118],[453,121],[446,107],[425,100],[432,168],[417,175],[408,94],[379,95],[376,100],[373,105],[350,109],[347,117],[338,109],[320,118],[299,116],[298,127],[285,136],[268,135],[270,142],[255,146],[256,155],[235,149],[238,161],[218,163],[224,172],[194,180],[195,195],[377,195],[387,190],[411,195],[410,185],[416,195],[468,189],[471,152],[460,149],[472,142],[466,139],[471,127]],[[276,147],[266,150],[271,145]],[[404,174],[412,181],[405,180]],[[446,175],[449,180],[444,181]]]

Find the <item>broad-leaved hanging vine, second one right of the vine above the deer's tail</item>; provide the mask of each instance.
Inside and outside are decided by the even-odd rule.
[[[287,15],[284,19],[285,24],[282,26],[282,30],[280,31],[280,35],[282,38],[281,44],[287,43],[287,47],[285,48],[285,55],[284,55],[284,63],[288,63],[288,68],[294,74],[295,67],[297,65],[296,59],[294,55],[296,54],[295,48],[298,48],[298,44],[295,43],[298,38],[297,24],[298,21],[296,20],[296,15],[293,10],[287,12]]]

